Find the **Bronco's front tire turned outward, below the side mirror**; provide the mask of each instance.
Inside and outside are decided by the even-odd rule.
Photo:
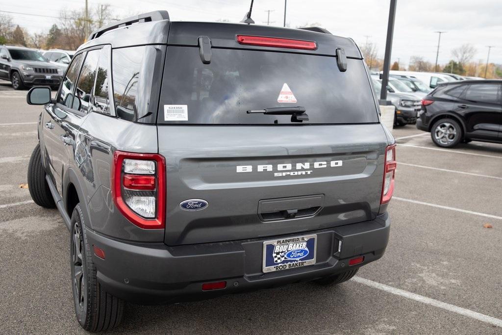
[[[37,144],[30,157],[30,163],[28,163],[28,190],[37,205],[54,208],[56,204],[45,176],[46,173],[40,155],[40,144]]]

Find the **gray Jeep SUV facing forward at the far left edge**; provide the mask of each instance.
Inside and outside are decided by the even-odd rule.
[[[0,79],[11,81],[14,89],[33,85],[57,89],[62,73],[36,50],[0,45]]]

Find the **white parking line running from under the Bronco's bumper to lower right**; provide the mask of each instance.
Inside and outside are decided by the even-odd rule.
[[[365,279],[365,278],[361,278],[361,277],[357,277],[356,276],[356,277],[353,277],[351,280],[355,281],[356,283],[363,284],[363,285],[366,285],[366,286],[369,286],[369,287],[372,287],[372,288],[376,288],[376,289],[381,290],[381,291],[385,291],[385,292],[388,292],[388,293],[396,294],[396,295],[399,295],[399,296],[402,296],[402,297],[405,297],[405,298],[408,298],[408,299],[412,299],[412,300],[415,300],[415,301],[418,301],[418,302],[421,302],[421,303],[425,303],[427,305],[431,305],[431,306],[435,306],[435,307],[438,307],[438,308],[442,308],[442,309],[445,309],[447,311],[454,312],[454,313],[457,313],[457,314],[460,314],[460,315],[464,315],[464,316],[467,316],[467,317],[470,317],[470,318],[473,318],[473,319],[476,319],[476,320],[479,320],[479,321],[482,321],[482,322],[486,322],[486,323],[492,324],[492,325],[497,326],[497,327],[502,327],[502,320],[501,319],[497,319],[496,317],[493,317],[493,316],[488,316],[488,315],[485,315],[485,314],[481,314],[481,313],[475,312],[475,311],[470,310],[470,309],[458,307],[458,306],[451,305],[449,303],[442,302],[442,301],[439,301],[439,300],[436,300],[436,299],[431,299],[431,298],[428,298],[428,297],[424,297],[423,295],[420,295],[420,294],[408,292],[408,291],[405,291],[405,290],[402,290],[402,289],[399,289],[399,288],[396,288],[396,287],[392,287],[392,286],[389,286],[389,285],[377,283],[377,282],[374,282],[374,281],[369,280],[369,279]]]

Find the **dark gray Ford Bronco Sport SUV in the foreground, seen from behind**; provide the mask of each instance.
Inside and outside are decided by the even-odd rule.
[[[395,144],[351,39],[152,12],[94,32],[56,98],[27,100],[30,192],[70,230],[87,330],[123,301],[341,283],[387,247]]]

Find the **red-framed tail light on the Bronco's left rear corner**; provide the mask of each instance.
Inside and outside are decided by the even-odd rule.
[[[165,227],[166,163],[159,154],[115,151],[112,196],[115,206],[143,229]]]

